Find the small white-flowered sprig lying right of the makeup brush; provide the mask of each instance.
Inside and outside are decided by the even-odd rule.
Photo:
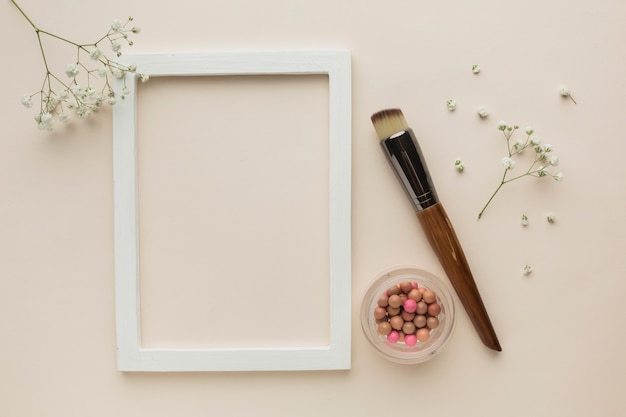
[[[517,125],[509,125],[504,121],[498,123],[498,130],[500,130],[507,142],[507,151],[508,155],[502,158],[502,166],[504,167],[504,174],[502,175],[502,179],[500,180],[500,184],[493,192],[487,203],[483,207],[483,209],[478,213],[478,218],[480,219],[484,214],[485,210],[496,196],[498,191],[509,182],[515,181],[517,179],[523,177],[537,177],[537,178],[552,178],[557,182],[563,180],[563,173],[552,173],[551,169],[556,167],[559,164],[559,158],[552,154],[552,145],[549,144],[541,144],[541,139],[534,135],[534,130],[532,127],[527,127],[525,129],[526,139],[519,139],[516,141],[512,140],[513,134],[519,129]],[[531,159],[531,164],[528,169],[521,174],[510,177],[509,174],[515,168],[517,164],[517,159],[521,156],[521,154],[527,150],[532,149],[534,152],[534,157]]]

